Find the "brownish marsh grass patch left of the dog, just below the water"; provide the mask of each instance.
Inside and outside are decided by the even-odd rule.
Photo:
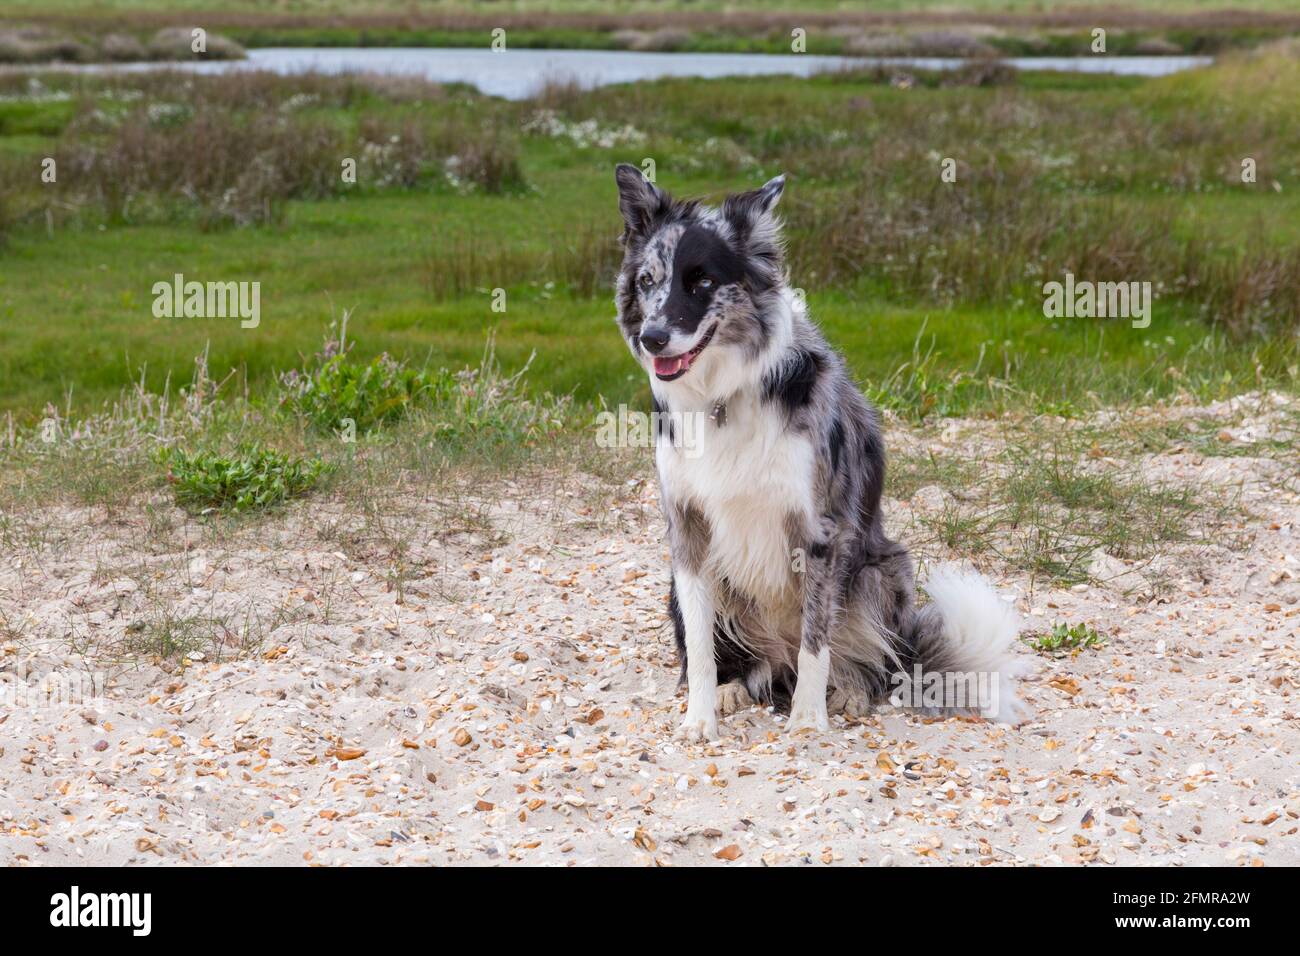
[[[295,199],[436,183],[489,194],[525,187],[517,140],[502,118],[472,122],[448,109],[430,120],[412,94],[437,101],[445,91],[433,85],[408,91],[378,79],[260,73],[218,82],[168,73],[47,79],[58,86],[35,81],[18,87],[26,96],[0,103],[0,129],[38,108],[40,129],[57,137],[56,183],[6,177],[0,202],[14,217],[98,213],[112,224],[211,229],[278,224]],[[346,159],[355,182],[343,176]]]

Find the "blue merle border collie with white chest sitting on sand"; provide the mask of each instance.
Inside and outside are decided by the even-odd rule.
[[[658,412],[682,735],[716,739],[719,711],[755,701],[788,708],[792,731],[827,730],[828,711],[866,713],[916,669],[991,676],[982,713],[1017,722],[1014,609],[953,566],[918,606],[911,555],[884,533],[876,411],[786,281],[785,177],[716,208],[632,165],[616,179],[618,320]],[[675,441],[682,415],[707,420],[693,454]]]

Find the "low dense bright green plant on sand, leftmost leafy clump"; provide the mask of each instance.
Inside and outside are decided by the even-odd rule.
[[[332,467],[265,447],[230,455],[169,449],[161,455],[176,502],[191,511],[251,511],[309,492]]]

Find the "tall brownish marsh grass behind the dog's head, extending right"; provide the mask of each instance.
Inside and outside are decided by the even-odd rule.
[[[1300,59],[1257,59],[1274,70],[1257,90],[1273,117],[1284,83],[1300,81]],[[638,155],[696,174],[731,181],[792,172],[798,189],[783,212],[801,286],[1023,306],[1041,303],[1043,282],[1066,272],[1149,281],[1162,310],[1195,303],[1210,326],[1244,338],[1292,325],[1300,246],[1249,232],[1232,242],[1188,233],[1179,204],[1160,198],[1260,196],[1271,178],[1294,172],[1283,156],[1300,143],[1284,122],[1265,121],[1245,104],[1234,86],[1245,69],[1230,61],[1223,86],[1200,96],[1176,95],[1178,78],[1140,88],[1095,79],[1093,99],[1071,88],[1076,79],[1004,77],[988,64],[907,74],[906,88],[897,70],[840,70],[794,91],[718,88],[702,122],[694,120],[696,83],[585,91],[554,82],[525,109],[555,114],[556,129],[616,130],[634,117],[638,130],[653,131]],[[719,142],[729,148],[710,146]],[[1258,183],[1243,183],[1225,159],[1232,142],[1251,142],[1261,156]],[[949,151],[957,183],[939,176]],[[594,242],[562,238],[555,248],[438,235],[429,287],[456,297],[511,274],[589,295],[607,281],[607,256],[615,258],[608,232],[597,230]]]

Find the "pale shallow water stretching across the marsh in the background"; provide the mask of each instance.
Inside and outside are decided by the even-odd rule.
[[[274,73],[384,73],[415,75],[441,83],[469,83],[485,94],[524,99],[550,79],[577,79],[584,86],[629,83],[660,77],[807,77],[845,66],[893,65],[948,70],[970,60],[952,57],[844,57],[809,53],[642,53],[615,49],[508,49],[439,47],[266,47],[247,60],[194,64],[124,64],[69,68],[125,72],[181,68],[196,73],[272,70]],[[1114,73],[1158,77],[1212,62],[1204,56],[1065,56],[1011,57],[1017,69]]]

